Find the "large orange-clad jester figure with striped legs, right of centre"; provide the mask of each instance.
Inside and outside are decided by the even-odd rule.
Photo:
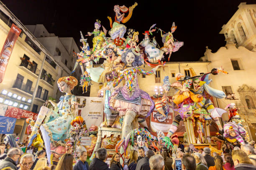
[[[193,74],[194,71],[192,68],[190,71]],[[173,102],[178,106],[176,111],[179,112],[179,115],[175,116],[172,126],[169,129],[169,133],[167,134],[168,137],[176,132],[179,122],[183,119],[184,114],[191,114],[193,110],[200,108],[204,108],[207,112],[212,113],[215,107],[213,106],[210,97],[212,96],[220,99],[225,98],[226,95],[223,91],[213,89],[207,85],[210,83],[208,80],[210,73],[217,75],[219,72],[218,69],[214,68],[211,72],[194,77],[186,76],[184,80],[182,80],[182,89],[180,89],[172,98]],[[223,128],[220,125],[218,117],[215,117],[214,120],[218,125],[219,130],[222,131]]]

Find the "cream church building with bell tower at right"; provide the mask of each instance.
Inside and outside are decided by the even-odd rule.
[[[228,72],[228,75],[211,76],[210,85],[223,90],[229,98],[215,100],[215,104],[224,108],[231,102],[236,103],[250,127],[251,137],[256,140],[256,4],[241,3],[220,34],[225,35],[225,47],[215,53],[206,47],[205,56],[200,60],[210,61],[208,70],[223,66]],[[227,115],[223,119],[227,120]]]

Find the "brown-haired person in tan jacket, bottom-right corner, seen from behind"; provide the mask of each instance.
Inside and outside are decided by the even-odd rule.
[[[233,150],[232,160],[236,170],[256,170],[256,167],[243,150]]]

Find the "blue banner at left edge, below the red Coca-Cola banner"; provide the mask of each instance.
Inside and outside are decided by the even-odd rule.
[[[0,133],[13,134],[16,118],[0,116]]]

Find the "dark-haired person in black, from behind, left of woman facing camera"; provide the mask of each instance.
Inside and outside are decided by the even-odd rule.
[[[106,160],[108,158],[108,153],[105,148],[99,148],[96,152],[96,158],[93,158],[89,170],[110,170]]]

